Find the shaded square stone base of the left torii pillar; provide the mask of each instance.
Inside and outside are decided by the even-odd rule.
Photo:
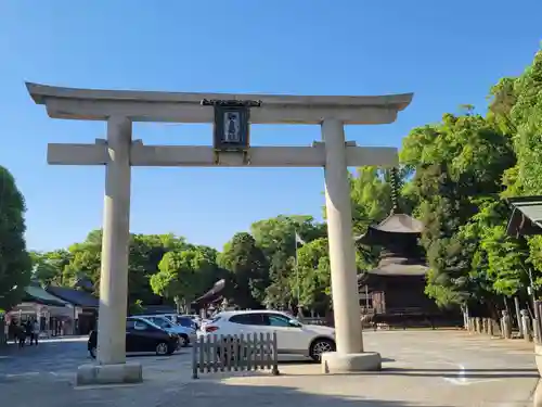
[[[141,383],[140,364],[82,365],[77,369],[77,385]]]

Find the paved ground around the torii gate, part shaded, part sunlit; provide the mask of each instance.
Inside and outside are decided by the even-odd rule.
[[[190,349],[143,364],[145,383],[74,389],[89,363],[85,341],[61,341],[0,354],[0,399],[10,407],[91,406],[499,406],[532,405],[538,381],[532,345],[451,331],[367,332],[367,351],[385,357],[379,373],[321,376],[312,364],[284,363],[281,376],[190,378]]]

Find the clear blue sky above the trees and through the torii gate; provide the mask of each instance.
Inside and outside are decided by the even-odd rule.
[[[28,246],[81,241],[102,220],[104,169],[46,163],[48,142],[92,142],[103,123],[51,119],[24,81],[169,91],[415,92],[392,125],[347,128],[395,145],[415,126],[486,109],[541,40],[542,1],[0,0],[0,165],[27,201]],[[136,124],[145,143],[210,144],[206,125]],[[254,126],[253,144],[308,145],[318,126]],[[322,169],[136,168],[131,229],[220,249],[279,214],[321,217]]]

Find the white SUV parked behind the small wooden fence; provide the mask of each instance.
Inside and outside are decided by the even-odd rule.
[[[335,351],[335,329],[304,325],[280,310],[229,310],[203,327],[202,335],[235,335],[276,332],[279,354],[309,356],[320,361],[324,352]]]

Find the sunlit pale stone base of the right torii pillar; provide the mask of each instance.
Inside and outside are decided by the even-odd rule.
[[[339,354],[327,352],[322,354],[322,373],[354,373],[382,369],[382,357],[376,352],[361,354]]]

